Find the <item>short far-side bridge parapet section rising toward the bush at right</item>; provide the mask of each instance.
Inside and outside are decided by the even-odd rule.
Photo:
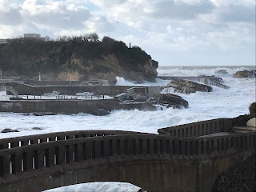
[[[232,128],[232,119],[217,118],[202,122],[192,122],[179,126],[159,129],[159,134],[170,134],[174,137],[198,137],[206,134],[228,132]]]

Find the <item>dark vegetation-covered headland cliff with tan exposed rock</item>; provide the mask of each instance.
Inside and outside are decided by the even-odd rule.
[[[43,80],[114,81],[116,76],[154,82],[158,62],[139,47],[112,38],[102,42],[23,42],[0,45],[3,75]]]

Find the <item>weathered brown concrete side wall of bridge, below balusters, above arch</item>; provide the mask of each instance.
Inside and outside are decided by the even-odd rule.
[[[218,174],[230,169],[241,155],[207,160],[123,157],[65,164],[16,175],[2,191],[36,192],[84,182],[130,182],[148,191],[211,191]],[[12,178],[10,178],[11,180]]]

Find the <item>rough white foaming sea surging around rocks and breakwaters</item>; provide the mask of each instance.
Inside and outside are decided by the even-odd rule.
[[[218,74],[218,70],[226,70],[227,74]],[[157,111],[114,110],[109,115],[101,117],[83,113],[53,116],[0,113],[0,130],[10,128],[19,131],[0,133],[0,138],[68,130],[131,130],[157,134],[158,129],[163,127],[214,118],[235,118],[241,114],[249,114],[248,108],[256,99],[255,78],[232,77],[235,72],[242,70],[255,70],[255,66],[159,66],[159,76],[214,75],[222,78],[223,84],[230,86],[230,89],[225,90],[218,86],[212,86],[212,92],[196,92],[194,94],[178,94],[170,89],[162,90],[163,93],[178,94],[186,99],[189,102],[189,107],[182,110],[160,107]],[[157,78],[156,82],[136,84],[117,77],[116,85],[166,86],[169,82],[169,80]],[[0,100],[8,100],[8,97],[5,92],[0,92]],[[42,130],[35,130],[35,127]],[[108,191],[122,191],[122,187]]]

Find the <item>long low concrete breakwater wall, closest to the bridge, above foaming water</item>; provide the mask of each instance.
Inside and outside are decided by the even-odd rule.
[[[118,99],[104,100],[20,100],[0,101],[0,112],[33,113],[52,112],[62,114],[89,113],[102,110],[156,110],[147,102],[122,103]]]

